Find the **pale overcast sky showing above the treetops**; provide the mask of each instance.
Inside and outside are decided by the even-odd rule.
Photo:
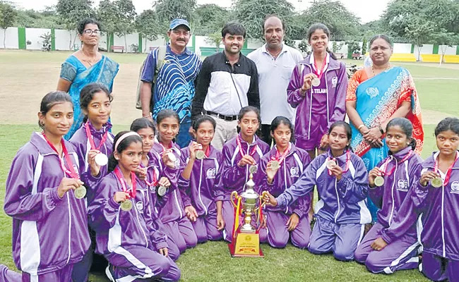
[[[45,6],[52,6],[57,3],[57,0],[10,0],[17,6],[25,9],[42,10]],[[297,11],[302,11],[311,5],[313,0],[289,0]],[[212,4],[218,3],[220,6],[231,6],[231,0],[197,0],[198,4]],[[341,2],[352,13],[362,19],[362,23],[368,23],[371,20],[377,20],[381,13],[383,13],[389,0],[341,0]],[[95,0],[97,5],[99,0]],[[143,10],[151,8],[153,1],[151,0],[133,0],[136,6],[136,12],[141,13]],[[363,4],[364,3],[364,4]]]

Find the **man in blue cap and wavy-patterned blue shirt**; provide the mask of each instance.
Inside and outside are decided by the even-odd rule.
[[[150,53],[141,74],[142,116],[156,119],[162,109],[173,109],[179,114],[180,130],[177,145],[186,147],[191,136],[191,101],[194,97],[194,80],[201,69],[201,59],[186,48],[190,39],[190,25],[181,18],[172,20],[167,36],[170,43],[165,47],[164,59],[159,58],[160,47]],[[158,59],[162,66],[155,77]],[[151,106],[151,108],[150,108]]]

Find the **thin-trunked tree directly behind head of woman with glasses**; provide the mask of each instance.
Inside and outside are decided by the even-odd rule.
[[[93,0],[59,0],[56,5],[56,12],[61,22],[64,23],[66,30],[72,34],[76,30],[76,25],[84,18],[91,18],[94,16]],[[75,42],[76,34],[73,37]],[[72,49],[72,37],[68,43],[68,48]]]

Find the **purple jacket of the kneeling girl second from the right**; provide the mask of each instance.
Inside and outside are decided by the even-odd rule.
[[[410,235],[412,238],[417,238],[416,220],[410,220],[404,213],[400,213],[400,208],[408,194],[411,186],[412,176],[422,163],[421,157],[415,152],[407,161],[398,164],[403,158],[412,152],[411,147],[407,147],[397,154],[390,156],[391,162],[388,164],[387,171],[395,171],[391,175],[384,177],[384,185],[369,189],[369,197],[371,201],[379,208],[378,223],[384,228],[382,238],[386,243],[391,243],[393,240],[400,238],[401,235]],[[387,159],[381,161],[377,166],[381,168]],[[397,228],[389,228],[395,222]],[[402,227],[403,226],[403,227]]]

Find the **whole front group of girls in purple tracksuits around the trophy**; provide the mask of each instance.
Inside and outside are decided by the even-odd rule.
[[[111,281],[177,281],[174,261],[187,248],[232,240],[239,226],[230,194],[242,193],[251,176],[257,192],[268,191],[263,218],[254,222],[262,243],[285,247],[290,240],[386,274],[417,267],[424,249],[425,276],[459,280],[457,118],[439,123],[439,152],[424,162],[414,152],[410,121],[394,118],[386,128],[390,156],[367,172],[350,149],[351,129],[343,121],[330,125],[328,150],[311,161],[294,145],[287,118],[271,124],[271,149],[259,139],[260,114],[251,106],[239,113],[239,135],[219,152],[210,145],[215,121],[208,116],[193,124],[193,142],[180,149],[174,143],[179,118],[171,110],[161,111],[156,125],[139,118],[113,136],[111,102],[102,85],[84,87],[85,122],[67,142],[70,97],[51,92],[42,99],[43,131],[19,149],[4,202],[24,281],[86,281],[93,252],[107,260]],[[320,200],[311,231],[314,187]],[[364,236],[371,222],[367,195],[381,209]],[[3,267],[0,278],[21,280]]]

